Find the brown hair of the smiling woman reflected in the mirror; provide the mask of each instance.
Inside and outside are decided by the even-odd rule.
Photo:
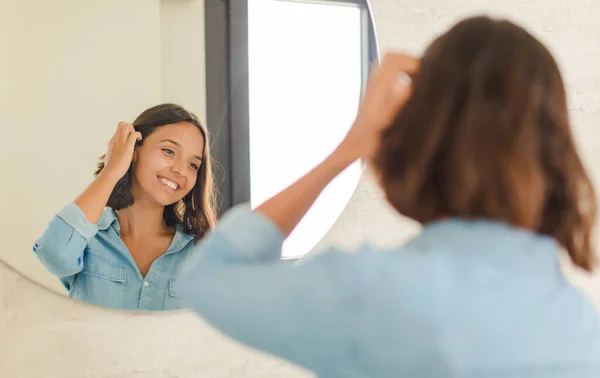
[[[159,127],[178,122],[189,122],[200,129],[204,137],[204,156],[198,170],[196,185],[180,203],[165,206],[163,218],[169,226],[175,226],[178,223],[183,224],[186,233],[200,239],[215,225],[217,219],[215,210],[216,190],[212,174],[208,130],[194,113],[175,104],[162,104],[146,109],[133,121],[133,127],[142,134],[142,140],[137,142],[137,146],[141,146],[146,137]],[[100,157],[96,175],[104,169],[105,157],[106,155]],[[132,178],[133,163],[113,189],[108,199],[108,207],[120,210],[133,204],[134,198],[131,194]]]

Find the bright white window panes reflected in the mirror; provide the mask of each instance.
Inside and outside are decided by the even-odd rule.
[[[362,10],[344,3],[249,0],[250,202],[256,207],[333,151],[356,114],[366,49]],[[352,196],[356,162],[322,193],[283,257],[319,242]]]

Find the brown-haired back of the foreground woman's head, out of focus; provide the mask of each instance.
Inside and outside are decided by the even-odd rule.
[[[508,21],[470,18],[429,46],[373,164],[389,202],[418,222],[506,222],[593,267],[596,198],[559,69]]]

